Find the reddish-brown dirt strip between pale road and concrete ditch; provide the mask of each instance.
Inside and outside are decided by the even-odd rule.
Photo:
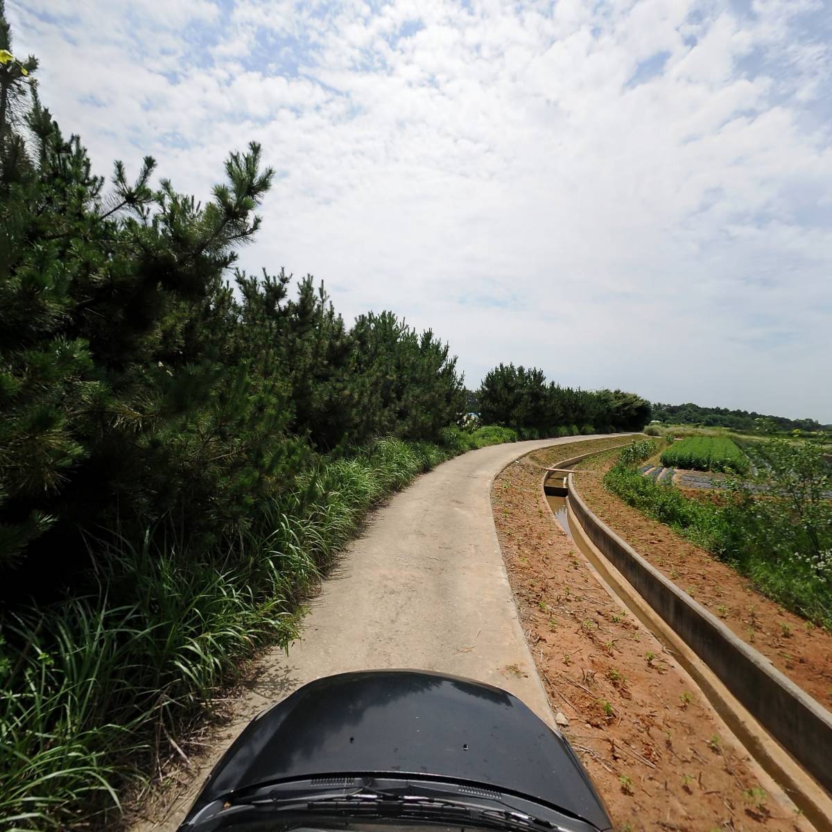
[[[557,525],[539,465],[492,492],[523,629],[564,733],[620,830],[810,830],[650,631],[628,616]]]

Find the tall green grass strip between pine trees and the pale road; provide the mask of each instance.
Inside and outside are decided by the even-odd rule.
[[[105,563],[84,597],[7,617],[0,635],[0,828],[99,824],[125,781],[149,772],[241,661],[297,635],[299,602],[370,508],[460,445],[506,428],[451,431],[444,447],[382,439],[302,473],[258,507],[227,552],[91,540]]]

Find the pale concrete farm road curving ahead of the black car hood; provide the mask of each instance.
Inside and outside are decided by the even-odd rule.
[[[598,437],[582,437],[585,439]],[[136,832],[176,830],[210,767],[255,714],[306,682],[345,671],[419,668],[511,691],[552,713],[508,584],[491,483],[508,463],[574,437],[494,445],[419,477],[370,515],[310,604],[300,641],[266,654],[234,718],[192,762],[186,785],[144,808]]]

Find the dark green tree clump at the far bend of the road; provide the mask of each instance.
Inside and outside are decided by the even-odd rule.
[[[500,364],[483,379],[476,399],[484,423],[522,437],[609,433],[644,428],[650,403],[622,390],[582,390],[547,382],[541,369]]]

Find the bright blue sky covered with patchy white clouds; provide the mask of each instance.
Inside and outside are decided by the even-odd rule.
[[[832,2],[7,0],[93,166],[275,184],[249,270],[393,310],[468,387],[832,423]]]

